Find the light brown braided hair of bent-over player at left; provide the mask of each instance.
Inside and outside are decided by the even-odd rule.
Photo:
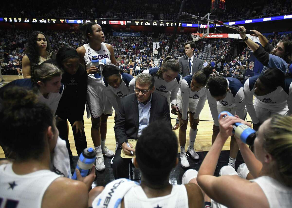
[[[35,65],[32,67],[32,82],[36,85],[38,81],[46,83],[53,77],[62,75],[62,71],[58,66],[52,63],[42,63],[41,65]]]

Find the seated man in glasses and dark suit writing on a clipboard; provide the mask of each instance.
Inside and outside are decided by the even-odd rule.
[[[112,165],[116,179],[129,177],[131,159],[121,158],[121,149],[128,155],[131,155],[131,151],[135,152],[127,146],[125,139],[138,139],[142,129],[155,120],[161,120],[161,125],[172,128],[166,97],[153,93],[153,76],[148,73],[139,74],[135,81],[134,90],[135,93],[121,99],[114,126],[114,134],[119,141]],[[132,145],[130,144],[130,146]]]

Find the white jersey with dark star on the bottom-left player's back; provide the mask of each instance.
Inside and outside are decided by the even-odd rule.
[[[17,175],[12,164],[0,166],[0,208],[39,208],[48,186],[60,175],[41,170],[26,175]]]

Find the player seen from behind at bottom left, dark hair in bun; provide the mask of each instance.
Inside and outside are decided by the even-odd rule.
[[[84,178],[77,170],[78,181],[50,171],[59,135],[51,109],[19,87],[1,99],[0,142],[16,154],[13,163],[0,165],[1,207],[87,207],[94,168]]]

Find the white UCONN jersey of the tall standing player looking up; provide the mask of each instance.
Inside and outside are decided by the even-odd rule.
[[[83,46],[85,48],[85,55],[84,55],[83,59],[84,59],[84,64],[85,64],[86,69],[89,69],[92,66],[91,59],[93,56],[96,56],[98,58],[99,62],[104,63],[103,65],[100,64],[100,71],[101,72],[102,72],[104,65],[112,63],[110,61],[111,54],[110,54],[109,50],[107,49],[107,46],[105,45],[105,43],[101,43],[101,48],[99,51],[93,50],[89,46],[89,43],[84,44]],[[101,84],[102,78],[103,78],[102,73],[101,73],[100,78],[95,78],[93,74],[89,74],[88,75],[88,84],[91,84],[91,82],[95,82],[95,81],[97,81],[98,83]],[[94,79],[94,80],[91,80],[91,79]]]

